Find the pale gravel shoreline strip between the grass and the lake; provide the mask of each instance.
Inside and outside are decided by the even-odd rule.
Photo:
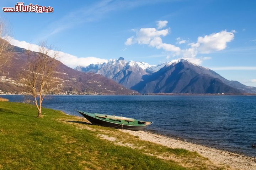
[[[63,112],[65,113],[65,112]],[[66,113],[65,113],[66,114]],[[84,117],[75,115],[80,119],[88,121]],[[180,139],[175,139],[174,137],[162,135],[151,130],[142,131],[131,131],[118,129],[121,132],[128,133],[133,136],[139,136],[140,140],[153,142],[162,146],[169,148],[181,148],[186,149],[191,152],[197,152],[205,158],[208,158],[215,165],[225,165],[228,169],[232,170],[256,170],[256,158],[251,156],[246,156],[240,153],[234,153],[226,151],[223,149],[208,147],[188,141],[183,141]]]

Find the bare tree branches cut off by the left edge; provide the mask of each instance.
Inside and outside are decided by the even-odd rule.
[[[6,21],[0,18],[0,68],[6,65],[12,56],[12,46],[7,41],[10,38],[10,29]]]

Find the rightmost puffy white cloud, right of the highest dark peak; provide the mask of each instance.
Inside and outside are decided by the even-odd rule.
[[[212,33],[204,37],[199,36],[197,43],[200,44],[198,51],[200,53],[210,53],[220,51],[226,48],[227,42],[234,39],[234,30],[227,32],[226,30],[219,33]]]

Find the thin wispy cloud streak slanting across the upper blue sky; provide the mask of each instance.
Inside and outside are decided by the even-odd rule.
[[[50,35],[57,34],[64,30],[76,27],[82,23],[97,21],[105,17],[107,13],[113,11],[128,10],[131,8],[155,4],[163,1],[165,0],[102,0],[89,6],[82,6],[81,8],[75,11],[71,11],[59,20],[49,24],[49,27],[47,29],[48,32],[44,33],[47,35],[44,36],[44,38],[47,38]]]

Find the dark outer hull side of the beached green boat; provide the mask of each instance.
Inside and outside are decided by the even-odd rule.
[[[79,112],[79,111],[78,111]],[[82,116],[84,116],[87,120],[89,120],[92,124],[96,125],[101,125],[105,127],[110,127],[110,128],[115,128],[115,129],[127,129],[127,130],[143,130],[145,129],[148,125],[143,125],[143,126],[131,126],[131,125],[125,125],[125,124],[117,124],[117,123],[112,123],[109,121],[97,119],[94,117],[91,117],[90,115],[84,114],[82,112],[79,112]]]

